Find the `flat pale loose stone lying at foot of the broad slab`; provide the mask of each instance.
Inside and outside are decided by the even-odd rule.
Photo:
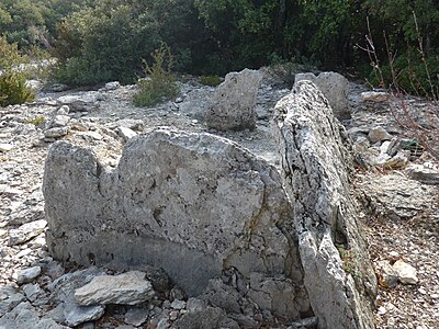
[[[77,290],[75,297],[80,305],[125,304],[136,305],[154,296],[153,286],[145,273],[132,271],[120,275],[101,275]]]

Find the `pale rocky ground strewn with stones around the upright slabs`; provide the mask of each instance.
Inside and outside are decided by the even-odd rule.
[[[175,126],[222,135],[279,164],[270,118],[288,89],[264,79],[257,129],[219,133],[209,129],[201,115],[214,89],[194,79],[181,87],[180,98],[154,109],[132,105],[135,88],[117,83],[95,91],[41,92],[33,103],[0,109],[0,328],[184,328],[184,316],[202,309],[200,318],[191,320],[207,321],[203,328],[263,327],[267,316],[249,313],[252,317],[229,319],[203,299],[188,299],[154,269],[145,270],[153,285],[120,303],[127,305],[115,306],[120,296],[106,296],[108,303],[101,303],[106,307],[77,306],[71,302],[76,288],[114,273],[61,265],[47,251],[42,182],[55,140],[90,147],[105,166],[114,167],[128,138]],[[361,220],[380,281],[376,328],[439,328],[438,166],[398,128],[387,102],[364,101],[363,91],[363,86],[351,83],[352,120],[344,124],[358,155],[352,189],[364,208]],[[420,114],[428,107],[420,99],[407,104]],[[112,285],[123,286],[121,282]],[[275,319],[266,327],[273,324]],[[305,324],[296,325],[291,328]]]

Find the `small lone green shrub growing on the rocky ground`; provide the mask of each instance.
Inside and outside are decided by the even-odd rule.
[[[179,94],[176,77],[171,72],[173,59],[169,47],[161,45],[150,55],[154,63],[148,65],[144,60],[147,78],[139,80],[139,90],[133,98],[136,106],[153,106]]]

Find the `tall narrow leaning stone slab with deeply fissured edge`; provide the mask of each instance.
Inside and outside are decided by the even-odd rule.
[[[356,223],[344,127],[315,84],[300,81],[275,106],[274,135],[318,328],[373,328],[376,282]]]

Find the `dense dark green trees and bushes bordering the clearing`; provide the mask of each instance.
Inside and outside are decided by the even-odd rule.
[[[419,88],[407,82],[414,72],[426,79],[419,39],[437,83],[436,0],[0,0],[0,32],[23,50],[49,50],[59,59],[56,78],[70,84],[131,82],[162,43],[181,72],[295,61],[368,76],[369,56],[357,47],[367,45],[367,16],[385,78],[383,31],[404,87]]]

